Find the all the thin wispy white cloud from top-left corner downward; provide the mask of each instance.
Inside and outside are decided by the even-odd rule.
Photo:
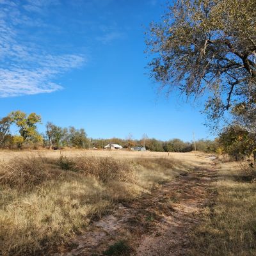
[[[21,15],[20,10],[23,8],[40,12],[44,3],[27,2],[29,5],[24,5],[24,8],[15,2],[0,0],[0,97],[61,90],[62,86],[54,83],[54,79],[68,70],[81,67],[86,62],[82,54],[54,54],[33,42],[20,40],[19,27],[15,24],[19,23],[17,20],[29,19],[24,13]],[[52,1],[47,3],[50,6]],[[12,13],[15,15],[10,15]]]

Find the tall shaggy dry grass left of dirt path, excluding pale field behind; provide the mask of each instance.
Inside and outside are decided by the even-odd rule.
[[[180,164],[127,158],[30,154],[0,163],[0,255],[40,255],[65,243],[116,203],[172,179]]]

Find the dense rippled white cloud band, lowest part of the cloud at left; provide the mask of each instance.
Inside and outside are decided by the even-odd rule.
[[[38,59],[38,67],[0,68],[0,97],[51,93],[61,90],[62,86],[52,83],[52,79],[70,68],[83,63],[84,58],[76,55],[45,56]],[[26,66],[26,65],[23,65]]]

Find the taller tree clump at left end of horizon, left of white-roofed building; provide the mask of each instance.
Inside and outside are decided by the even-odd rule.
[[[46,131],[40,134],[37,125],[41,123],[41,116],[36,113],[27,115],[22,111],[13,111],[0,120],[0,147],[25,148],[25,147],[76,147],[87,148],[88,138],[84,129],[75,127],[62,128],[47,122]],[[11,134],[11,126],[17,127],[19,134]]]

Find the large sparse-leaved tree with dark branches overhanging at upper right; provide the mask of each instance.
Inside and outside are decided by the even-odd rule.
[[[256,110],[256,1],[176,0],[147,33],[150,75],[170,93],[207,95],[212,121],[252,124]],[[249,120],[249,121],[248,121]],[[216,123],[215,123],[216,124]]]

